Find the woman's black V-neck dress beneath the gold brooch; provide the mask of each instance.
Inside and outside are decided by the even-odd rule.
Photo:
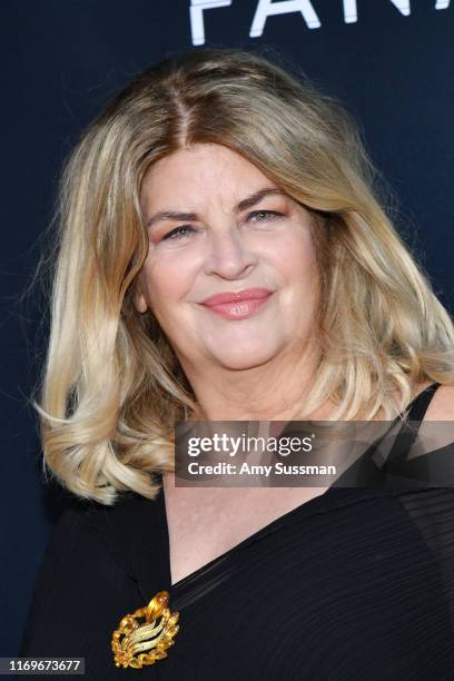
[[[454,679],[454,487],[332,486],[174,585],[164,502],[61,515],[22,655],[83,657],[97,681]],[[161,590],[180,613],[175,645],[116,668],[112,631]]]

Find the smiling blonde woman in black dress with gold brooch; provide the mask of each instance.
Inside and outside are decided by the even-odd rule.
[[[85,503],[22,654],[92,679],[451,678],[450,487],[174,484],[185,418],[454,418],[452,320],[342,107],[258,55],[168,59],[83,132],[60,206],[37,408]],[[167,638],[128,658],[128,622]]]

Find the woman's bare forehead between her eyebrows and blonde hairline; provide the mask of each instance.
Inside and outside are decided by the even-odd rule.
[[[207,200],[235,203],[264,185],[277,188],[240,154],[221,145],[198,144],[154,164],[140,196],[154,209],[189,208]]]

